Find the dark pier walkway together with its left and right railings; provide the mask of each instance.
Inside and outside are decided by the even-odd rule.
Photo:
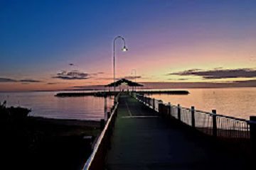
[[[117,101],[83,169],[249,169],[254,117],[197,111],[135,93],[119,94]]]

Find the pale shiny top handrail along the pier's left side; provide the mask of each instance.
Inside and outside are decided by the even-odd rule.
[[[92,164],[92,161],[93,159],[95,159],[95,154],[97,153],[99,147],[100,147],[100,144],[103,140],[103,137],[105,137],[105,134],[107,133],[107,129],[109,128],[110,126],[110,122],[112,121],[112,118],[114,116],[114,113],[115,111],[117,110],[117,106],[118,106],[118,102],[115,104],[114,106],[114,110],[112,111],[111,115],[110,115],[110,118],[107,120],[107,123],[105,125],[105,128],[102,130],[101,134],[100,134],[100,137],[98,138],[96,144],[95,144],[95,147],[93,148],[93,151],[92,151],[92,154],[90,155],[90,157],[87,159],[87,162],[85,163],[85,166],[82,168],[82,170],[87,170],[87,169],[90,169],[90,166]]]

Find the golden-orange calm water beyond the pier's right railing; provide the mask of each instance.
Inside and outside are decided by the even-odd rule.
[[[154,94],[152,97],[186,108],[195,106],[200,111],[216,109],[218,114],[236,118],[249,119],[250,115],[256,115],[256,88],[187,90],[188,95]]]

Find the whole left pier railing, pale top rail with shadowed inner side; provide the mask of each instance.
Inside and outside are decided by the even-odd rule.
[[[87,159],[85,166],[82,170],[97,170],[97,169],[105,169],[105,156],[107,154],[107,149],[110,148],[110,138],[112,136],[114,122],[117,118],[117,106],[118,99],[120,93],[115,96],[114,106],[112,106],[111,112],[107,114],[107,122],[101,121],[102,132],[100,136],[97,138],[97,142],[92,150],[92,154]]]

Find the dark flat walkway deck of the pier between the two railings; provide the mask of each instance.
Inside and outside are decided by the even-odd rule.
[[[246,169],[206,137],[172,125],[134,98],[119,98],[107,169]]]

